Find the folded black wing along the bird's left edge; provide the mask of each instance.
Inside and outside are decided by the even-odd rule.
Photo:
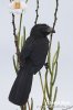
[[[27,41],[25,41],[25,44],[24,46],[22,47],[22,51],[20,53],[20,61],[24,61],[25,58],[28,58],[32,52],[32,48],[33,48],[33,40],[31,37],[29,37]]]

